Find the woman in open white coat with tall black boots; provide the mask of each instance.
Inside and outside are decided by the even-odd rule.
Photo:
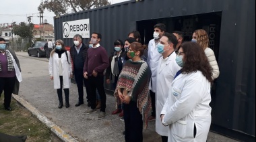
[[[59,98],[59,106],[63,106],[62,88],[65,93],[65,106],[69,107],[69,87],[70,78],[72,75],[72,65],[70,53],[65,49],[64,42],[57,40],[55,42],[55,49],[51,52],[49,60],[49,74],[53,80],[54,88],[57,89]]]

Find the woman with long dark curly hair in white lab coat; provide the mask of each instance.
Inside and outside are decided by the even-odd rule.
[[[185,42],[177,52],[177,72],[161,112],[168,141],[203,141],[211,125],[212,67],[199,44]]]

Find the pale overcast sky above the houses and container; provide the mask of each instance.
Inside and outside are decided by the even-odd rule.
[[[20,23],[22,21],[28,22],[28,16],[32,16],[31,22],[34,24],[39,24],[39,11],[37,7],[40,5],[41,0],[1,0],[0,8],[0,23]],[[121,3],[123,1],[129,0],[108,0],[111,4]],[[53,17],[55,14],[53,12],[44,10],[44,19],[47,22],[53,24]]]

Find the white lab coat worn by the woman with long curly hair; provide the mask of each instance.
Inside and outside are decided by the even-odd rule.
[[[212,119],[210,88],[200,71],[180,74],[172,81],[161,112],[162,123],[169,125],[168,141],[206,141]]]

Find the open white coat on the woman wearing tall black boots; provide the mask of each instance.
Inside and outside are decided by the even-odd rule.
[[[67,57],[69,62],[67,62]],[[63,88],[70,87],[70,74],[72,74],[72,65],[71,65],[71,58],[70,53],[67,51],[67,56],[65,52],[61,54],[61,64],[63,70]],[[54,53],[53,56],[50,56],[49,60],[49,74],[53,76],[53,84],[54,88],[58,89],[61,88],[61,82],[59,80],[59,55]]]

